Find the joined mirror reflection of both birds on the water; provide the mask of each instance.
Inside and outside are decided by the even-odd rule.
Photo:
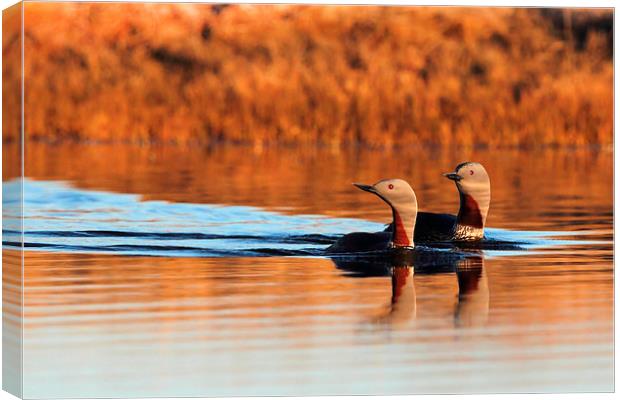
[[[423,254],[422,257],[414,255],[387,259],[333,258],[332,261],[347,276],[391,278],[391,301],[379,316],[372,319],[374,324],[397,327],[416,319],[418,311],[414,279],[416,275],[455,273],[458,296],[452,313],[454,326],[467,328],[484,325],[489,314],[489,286],[482,255],[462,253],[448,257],[443,255],[439,257],[441,263],[434,268],[428,262],[429,257],[429,254]]]

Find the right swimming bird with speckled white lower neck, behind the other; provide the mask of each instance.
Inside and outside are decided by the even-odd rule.
[[[454,172],[443,174],[453,180],[461,206],[457,215],[419,212],[414,241],[477,241],[484,238],[484,224],[491,202],[491,182],[482,164],[464,162]],[[392,226],[385,231],[390,232]]]

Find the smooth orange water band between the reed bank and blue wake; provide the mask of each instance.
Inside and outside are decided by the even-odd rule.
[[[11,145],[5,147],[10,155]],[[613,153],[604,150],[254,151],[28,143],[25,175],[137,193],[145,199],[254,205],[385,221],[390,218],[386,207],[356,191],[351,182],[400,177],[412,184],[422,210],[455,212],[455,188],[441,173],[464,160],[482,162],[491,176],[489,226],[565,230],[583,220],[584,212],[589,225],[581,229],[593,223],[609,225]]]

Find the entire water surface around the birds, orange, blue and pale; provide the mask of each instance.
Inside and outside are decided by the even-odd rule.
[[[26,150],[26,397],[613,390],[611,153]],[[352,181],[454,212],[465,159],[499,245],[324,256],[389,221]]]

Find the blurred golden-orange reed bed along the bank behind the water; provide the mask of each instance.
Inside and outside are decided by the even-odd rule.
[[[611,11],[26,3],[24,12],[29,139],[613,140]],[[5,26],[5,59],[19,55],[16,27]],[[4,107],[16,115],[8,66]],[[19,131],[15,118],[3,126],[5,139]]]

